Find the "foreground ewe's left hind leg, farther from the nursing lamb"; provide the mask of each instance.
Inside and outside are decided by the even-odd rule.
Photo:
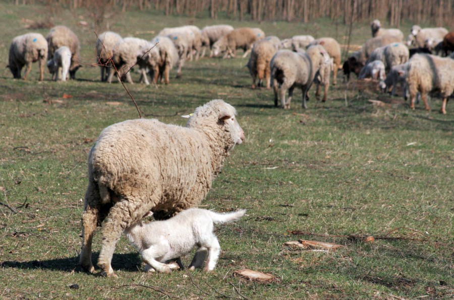
[[[85,193],[85,208],[82,213],[82,250],[80,252],[79,263],[82,268],[91,273],[94,272],[91,261],[91,244],[93,233],[96,229],[100,205],[101,198],[99,196],[98,185],[90,181],[87,192]]]

